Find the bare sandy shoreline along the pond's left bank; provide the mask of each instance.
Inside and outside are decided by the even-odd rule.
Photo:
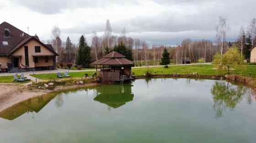
[[[60,92],[69,89],[82,88],[82,87],[94,87],[100,85],[99,83],[88,83],[85,85],[74,86],[59,86],[54,90],[41,90],[35,87],[20,84],[1,84],[0,83],[0,112],[8,107],[11,107],[19,102],[27,100],[32,97],[41,96],[50,92]]]

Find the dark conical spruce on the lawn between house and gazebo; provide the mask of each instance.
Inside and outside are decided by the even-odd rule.
[[[85,67],[89,67],[91,64],[91,47],[85,42],[84,36],[80,37],[76,64]]]

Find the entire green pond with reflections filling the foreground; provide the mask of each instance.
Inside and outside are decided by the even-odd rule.
[[[36,97],[0,112],[0,143],[256,143],[250,88],[152,79]]]

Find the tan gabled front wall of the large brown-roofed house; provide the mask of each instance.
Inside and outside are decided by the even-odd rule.
[[[24,51],[24,47],[28,46],[28,61],[29,61],[29,68],[34,68],[36,66],[53,66],[53,58],[49,57],[49,61],[48,63],[45,63],[45,60],[43,58],[43,60],[39,60],[41,58],[38,57],[38,63],[34,63],[33,61],[33,56],[40,56],[40,55],[52,55],[54,56],[52,51],[49,51],[45,46],[41,45],[40,43],[38,43],[35,40],[31,40],[29,41],[27,44],[25,44],[24,46],[21,46],[18,50],[16,50],[12,56],[21,56],[21,64],[22,65],[26,65],[25,64],[25,51]],[[41,47],[41,52],[40,53],[36,53],[35,52],[35,46],[40,46]]]

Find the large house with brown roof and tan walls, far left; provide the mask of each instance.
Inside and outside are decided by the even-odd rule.
[[[55,69],[56,56],[50,44],[38,36],[19,30],[7,22],[0,24],[0,65],[2,72]]]

